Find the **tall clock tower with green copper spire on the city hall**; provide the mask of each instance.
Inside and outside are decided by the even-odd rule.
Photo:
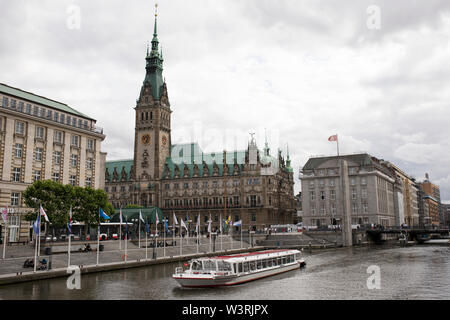
[[[159,50],[157,14],[151,50],[147,46],[146,73],[136,101],[134,176],[141,193],[149,195],[149,205],[158,205],[157,190],[164,162],[170,156],[170,103],[162,76],[163,55]],[[153,191],[152,191],[153,190]]]

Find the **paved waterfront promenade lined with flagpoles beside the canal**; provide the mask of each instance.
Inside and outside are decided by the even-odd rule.
[[[161,241],[162,239],[159,239]],[[148,239],[148,248],[145,248],[146,241],[141,239],[141,248],[138,240],[107,240],[100,241],[103,250],[99,252],[99,263],[97,265],[97,242],[96,241],[74,241],[71,245],[70,265],[78,266],[82,272],[109,271],[129,267],[145,266],[158,263],[168,263],[184,261],[196,256],[230,254],[252,250],[247,242],[240,242],[232,239],[231,236],[218,237],[213,241],[206,237],[183,238],[180,246],[180,238],[167,238],[166,243],[171,244],[175,241],[175,246],[166,246],[153,248],[153,239]],[[126,243],[125,243],[126,242]],[[93,249],[90,252],[80,252],[79,248],[89,243]],[[68,267],[68,242],[41,243],[41,254],[38,260],[46,259],[51,263],[50,270],[37,270],[33,268],[24,268],[26,259],[34,259],[34,245],[7,246],[5,259],[0,259],[0,285],[5,283],[14,283],[30,281],[37,279],[46,279],[59,276],[67,276]],[[51,247],[52,254],[43,254],[45,248]],[[126,247],[126,250],[125,250]],[[256,249],[256,248],[255,248]],[[259,248],[261,249],[261,248]]]

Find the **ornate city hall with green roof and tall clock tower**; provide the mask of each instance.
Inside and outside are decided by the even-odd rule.
[[[242,220],[243,228],[262,229],[289,223],[296,213],[289,154],[258,149],[255,139],[245,150],[204,153],[197,143],[173,145],[163,57],[155,17],[146,74],[135,109],[134,158],[107,161],[105,191],[115,208],[128,204],[157,206],[172,223],[173,213],[191,222],[200,215],[201,230],[211,216]]]

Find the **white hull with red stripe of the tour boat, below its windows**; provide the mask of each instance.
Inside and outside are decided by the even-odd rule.
[[[218,287],[218,286],[232,286],[249,281],[254,281],[261,278],[274,276],[280,273],[299,269],[305,265],[304,261],[297,261],[295,263],[283,266],[277,266],[271,269],[265,269],[252,273],[233,274],[230,276],[213,277],[213,276],[192,276],[189,274],[174,274],[173,278],[182,286],[186,288],[201,288],[201,287]]]

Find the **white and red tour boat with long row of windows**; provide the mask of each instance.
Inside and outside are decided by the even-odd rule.
[[[182,287],[231,286],[305,266],[299,250],[265,250],[193,259],[172,276]]]

